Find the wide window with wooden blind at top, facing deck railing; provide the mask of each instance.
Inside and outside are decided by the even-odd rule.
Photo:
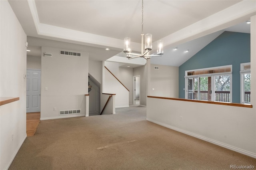
[[[232,65],[185,72],[186,99],[232,102]]]

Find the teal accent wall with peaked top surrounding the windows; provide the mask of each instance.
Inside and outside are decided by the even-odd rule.
[[[240,103],[240,63],[250,62],[250,34],[223,32],[179,67],[179,98],[185,98],[185,71],[232,65],[232,103]]]

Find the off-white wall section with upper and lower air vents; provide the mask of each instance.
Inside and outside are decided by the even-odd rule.
[[[44,52],[52,53],[52,57],[43,57]],[[60,49],[42,47],[41,120],[85,115],[88,53],[81,52],[81,55],[82,57],[60,55]],[[59,111],[73,109],[81,109],[81,113],[59,115]]]

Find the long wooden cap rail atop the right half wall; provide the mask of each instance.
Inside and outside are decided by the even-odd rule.
[[[244,104],[240,104],[240,103],[226,103],[226,102],[217,102],[217,101],[190,100],[190,99],[180,99],[180,98],[170,98],[170,97],[156,97],[156,96],[148,96],[148,97],[156,98],[156,99],[179,100],[179,101],[189,101],[189,102],[196,102],[196,103],[208,103],[208,104],[214,104],[214,105],[226,105],[226,106],[237,106],[237,107],[252,108],[252,105],[244,105]]]

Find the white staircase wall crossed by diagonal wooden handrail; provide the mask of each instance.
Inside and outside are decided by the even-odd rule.
[[[105,66],[126,86],[126,88],[132,89],[132,69],[123,69],[119,67],[118,63],[109,61],[105,61]],[[103,93],[116,94],[116,108],[129,107],[130,92],[106,68],[104,68],[103,88]],[[101,102],[104,103],[105,101]]]

